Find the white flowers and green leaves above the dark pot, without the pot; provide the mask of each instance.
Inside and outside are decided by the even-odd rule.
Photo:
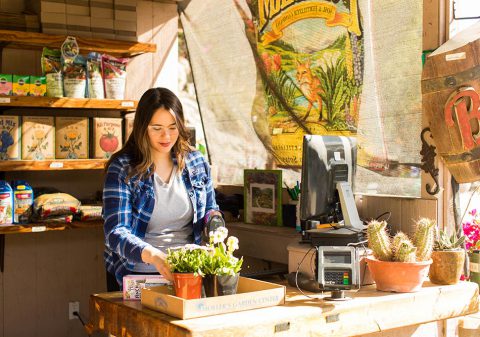
[[[209,233],[208,257],[205,259],[203,269],[205,274],[233,276],[240,272],[243,257],[239,259],[233,256],[233,252],[239,247],[238,239],[235,236],[227,237],[228,230],[225,227],[219,227]]]

